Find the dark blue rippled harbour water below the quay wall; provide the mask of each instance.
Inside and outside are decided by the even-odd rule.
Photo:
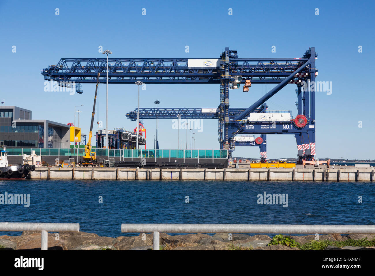
[[[81,231],[108,237],[134,235],[121,233],[121,223],[374,225],[374,188],[374,182],[0,181],[0,197],[30,195],[29,207],[0,204],[0,222],[80,223]],[[288,207],[258,204],[264,192],[288,195]]]

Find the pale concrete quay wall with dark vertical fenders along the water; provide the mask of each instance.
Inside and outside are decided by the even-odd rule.
[[[31,179],[374,181],[373,168],[130,169],[39,167]]]

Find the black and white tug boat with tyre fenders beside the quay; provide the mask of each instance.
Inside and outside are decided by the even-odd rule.
[[[0,151],[0,180],[6,179],[30,179],[30,172],[35,170],[35,165],[13,165],[9,166],[7,151],[4,147]]]

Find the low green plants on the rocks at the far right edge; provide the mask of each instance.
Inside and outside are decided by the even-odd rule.
[[[337,246],[337,247],[344,247],[344,246],[375,246],[375,237],[371,240],[367,238],[363,238],[362,240],[352,240],[348,239],[345,241],[311,241],[309,243],[305,243],[302,246],[299,246],[300,250],[324,250],[327,246]]]

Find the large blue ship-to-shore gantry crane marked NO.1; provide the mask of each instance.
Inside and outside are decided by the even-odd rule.
[[[218,140],[220,148],[234,150],[232,139],[242,134],[292,134],[297,142],[299,161],[315,157],[315,91],[312,87],[318,70],[318,54],[311,47],[301,56],[292,58],[240,58],[237,51],[225,50],[217,58],[113,58],[108,59],[109,84],[143,83],[202,83],[219,84]],[[84,83],[95,83],[98,72],[107,72],[105,58],[62,58],[56,65],[41,71],[45,80],[59,83],[74,82],[77,92]],[[106,78],[100,77],[100,83]],[[287,84],[297,85],[297,115],[289,112],[255,113]],[[308,83],[307,89],[304,83]],[[229,90],[236,91],[244,84],[249,91],[252,84],[275,84],[266,95],[255,101],[234,118],[230,116]],[[159,115],[158,115],[159,118]]]

